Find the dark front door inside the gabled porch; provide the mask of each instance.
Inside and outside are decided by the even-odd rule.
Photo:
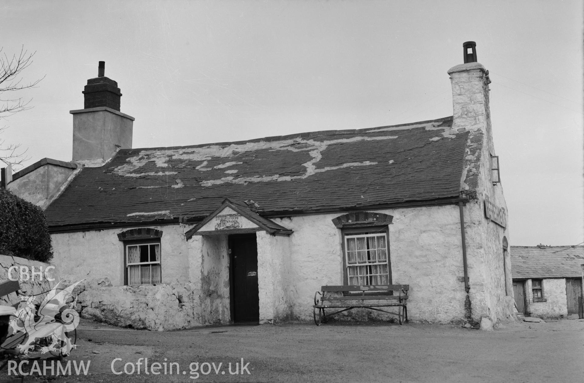
[[[230,235],[231,319],[259,321],[258,245],[254,234]]]

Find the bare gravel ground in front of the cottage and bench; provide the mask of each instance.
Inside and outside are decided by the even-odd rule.
[[[67,360],[91,361],[88,375],[26,377],[25,381],[321,383],[584,380],[584,319],[510,323],[489,332],[416,323],[403,326],[390,323],[327,323],[319,327],[310,323],[287,323],[150,332],[82,322],[78,328],[77,346],[71,357],[65,358],[65,363]],[[121,359],[113,365],[116,372],[121,372],[119,375],[112,372],[114,358]],[[148,358],[148,372],[152,372],[152,363],[160,363],[158,371],[161,374],[144,374],[143,360],[140,374],[137,374],[140,358]],[[243,371],[241,358],[246,366]],[[179,374],[176,374],[176,364],[173,365],[172,375],[168,374],[168,370],[164,374],[164,363],[168,367],[171,362],[179,364]],[[123,372],[126,363],[127,371],[134,368],[134,374]],[[196,369],[197,365],[192,363],[199,363],[199,368]],[[229,363],[231,372],[235,372],[236,363],[239,363],[239,374],[230,374]],[[72,370],[74,372],[74,365]],[[201,371],[210,372],[204,375]],[[9,377],[4,368],[0,371],[0,381],[16,382],[19,379],[12,375]]]

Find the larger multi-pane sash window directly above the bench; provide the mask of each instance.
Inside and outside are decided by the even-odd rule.
[[[389,284],[387,236],[345,235],[345,264],[350,285]]]

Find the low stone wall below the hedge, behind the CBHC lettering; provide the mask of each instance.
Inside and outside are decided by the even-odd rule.
[[[30,260],[30,259],[25,259],[25,258],[21,258],[21,257],[13,257],[13,256],[9,256],[9,255],[0,255],[0,283],[9,280],[8,270],[12,266],[19,267],[18,270],[20,270],[20,266],[26,266],[29,268],[28,280],[19,280],[19,284],[20,284],[19,294],[20,295],[33,295],[33,294],[39,294],[39,293],[44,293],[46,291],[50,291],[51,288],[53,288],[54,285],[56,285],[59,281],[58,273],[57,273],[57,270],[55,270],[55,269],[49,269],[47,272],[48,277],[50,277],[51,279],[54,279],[54,281],[47,280],[46,274],[44,273],[44,270],[46,270],[48,266],[52,266],[50,263],[38,262],[36,260]],[[38,274],[34,275],[34,279],[31,278],[31,271],[32,271],[33,266],[34,266],[34,271],[36,271],[36,272],[39,270],[43,270],[42,279]],[[17,278],[17,277],[20,278],[20,273],[18,272],[18,270],[12,271],[13,278]],[[22,278],[22,279],[25,279],[25,278]],[[7,296],[0,297],[0,305],[13,305],[13,304],[16,304],[18,302],[19,302],[19,298],[18,298],[18,295],[16,293],[12,293],[12,294],[9,294]]]

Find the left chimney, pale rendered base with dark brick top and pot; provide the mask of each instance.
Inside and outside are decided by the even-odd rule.
[[[73,161],[100,166],[117,149],[131,149],[134,117],[120,112],[120,88],[105,76],[105,61],[99,61],[98,76],[85,85],[84,109],[73,114]]]

